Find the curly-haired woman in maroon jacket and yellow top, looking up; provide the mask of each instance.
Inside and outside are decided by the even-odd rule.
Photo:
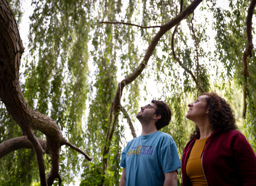
[[[188,107],[186,117],[196,130],[182,155],[183,186],[256,185],[255,154],[228,103],[204,93]]]

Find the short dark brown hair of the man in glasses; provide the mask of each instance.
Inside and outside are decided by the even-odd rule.
[[[155,123],[156,129],[160,130],[164,126],[169,125],[172,118],[172,112],[170,107],[163,101],[151,100],[151,103],[157,105],[156,114],[161,115],[161,119],[157,120],[157,122]]]

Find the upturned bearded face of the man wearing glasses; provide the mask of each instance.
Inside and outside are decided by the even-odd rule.
[[[140,108],[141,110],[136,116],[140,122],[148,123],[155,115],[157,115],[157,105],[154,103],[150,103]]]

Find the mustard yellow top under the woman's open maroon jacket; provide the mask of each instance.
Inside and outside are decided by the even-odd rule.
[[[207,186],[202,167],[202,158],[200,156],[208,138],[197,139],[195,141],[187,161],[186,173],[193,186]]]

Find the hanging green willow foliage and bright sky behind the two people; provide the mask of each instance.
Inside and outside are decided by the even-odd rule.
[[[183,9],[190,3],[184,1]],[[19,27],[22,27],[22,2],[9,1],[9,5]],[[242,120],[241,116],[242,56],[247,45],[245,20],[248,7],[249,2],[243,0],[204,1],[194,15],[181,21],[174,36],[174,49],[182,65],[199,78],[205,91],[216,91],[228,99],[240,130],[256,151],[255,49],[249,59],[246,118]],[[33,0],[32,8],[28,55],[23,56],[22,63],[25,72],[20,74],[25,80],[21,82],[23,95],[31,108],[51,117],[65,138],[93,157],[92,162],[87,162],[76,151],[62,147],[62,183],[67,185],[81,175],[81,185],[101,184],[102,149],[111,124],[110,103],[117,83],[138,66],[158,29],[99,22],[162,25],[179,13],[180,1]],[[254,27],[255,13],[255,41]],[[121,103],[135,125],[138,125],[135,115],[140,104],[151,99],[168,103],[173,117],[170,125],[162,131],[171,134],[181,157],[189,133],[194,128],[194,124],[185,119],[187,104],[202,90],[173,58],[173,29],[159,41],[146,70],[126,86]],[[21,129],[2,103],[0,116],[0,143],[22,136]],[[118,184],[121,151],[126,145],[126,138],[130,138],[125,134],[129,133],[127,131],[129,126],[121,113],[110,152],[103,157],[108,158],[109,164],[105,185]],[[44,138],[39,132],[36,136]],[[49,171],[50,157],[47,155],[45,162]],[[14,151],[0,159],[0,164],[2,185],[38,184],[33,150]],[[178,184],[180,181],[179,175]]]

